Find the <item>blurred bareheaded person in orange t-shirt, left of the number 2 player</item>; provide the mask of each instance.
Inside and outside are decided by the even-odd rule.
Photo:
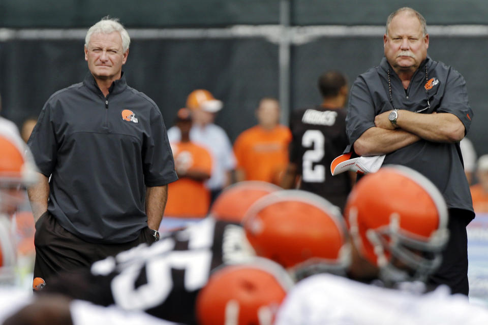
[[[280,105],[263,98],[256,110],[258,125],[242,132],[234,143],[237,159],[236,180],[257,180],[280,184],[288,165],[290,129],[280,125]]]

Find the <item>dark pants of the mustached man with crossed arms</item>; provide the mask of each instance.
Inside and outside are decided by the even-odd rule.
[[[442,253],[442,264],[429,279],[429,284],[446,284],[452,294],[468,295],[468,236],[466,226],[472,220],[471,212],[449,209],[449,241]]]

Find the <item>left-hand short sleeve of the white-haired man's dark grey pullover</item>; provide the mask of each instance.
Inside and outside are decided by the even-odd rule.
[[[54,123],[53,108],[48,101],[39,114],[36,126],[27,141],[39,171],[49,177],[56,165],[58,141]]]

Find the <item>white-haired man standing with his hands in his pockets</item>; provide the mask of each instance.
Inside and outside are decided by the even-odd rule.
[[[47,282],[159,237],[167,184],[177,176],[158,106],[121,70],[129,44],[117,19],[90,27],[89,73],[48,99],[28,141],[42,178],[28,189],[34,277]]]

